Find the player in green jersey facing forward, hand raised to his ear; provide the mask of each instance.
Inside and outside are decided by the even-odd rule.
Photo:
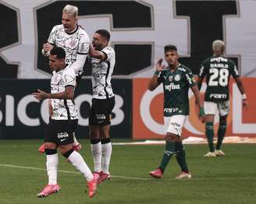
[[[181,167],[181,173],[177,179],[191,178],[185,158],[185,149],[182,142],[183,125],[189,114],[189,88],[193,91],[197,107],[200,109],[199,118],[204,121],[204,108],[200,101],[199,90],[187,66],[178,62],[178,52],[175,45],[165,45],[165,61],[168,66],[164,68],[162,58],[158,60],[155,75],[151,78],[148,90],[155,90],[161,83],[164,89],[164,121],[165,121],[165,151],[162,162],[150,175],[154,178],[162,178],[165,168],[169,164],[172,155]]]

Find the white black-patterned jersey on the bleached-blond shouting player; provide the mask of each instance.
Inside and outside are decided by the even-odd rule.
[[[62,47],[66,51],[66,64],[72,65],[76,76],[83,73],[84,62],[89,52],[90,39],[82,27],[77,26],[73,33],[66,33],[62,24],[54,26],[48,37],[48,43]],[[80,55],[84,56],[79,58]],[[76,62],[77,59],[81,62]]]

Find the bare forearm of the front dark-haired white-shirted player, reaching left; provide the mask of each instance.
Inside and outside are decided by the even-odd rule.
[[[65,91],[61,93],[46,93],[43,90],[37,90],[37,93],[32,93],[32,95],[37,100],[44,100],[47,98],[55,98],[55,99],[69,99],[73,100],[74,97],[74,88],[73,86],[66,86]]]

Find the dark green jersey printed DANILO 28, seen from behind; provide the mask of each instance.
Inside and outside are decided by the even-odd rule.
[[[235,63],[223,56],[207,58],[201,64],[199,77],[206,76],[207,89],[204,100],[220,102],[229,100],[229,77],[239,76]]]

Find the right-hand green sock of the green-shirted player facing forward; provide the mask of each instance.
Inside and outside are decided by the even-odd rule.
[[[182,142],[175,142],[175,155],[181,171],[189,173],[186,162],[186,153]]]

